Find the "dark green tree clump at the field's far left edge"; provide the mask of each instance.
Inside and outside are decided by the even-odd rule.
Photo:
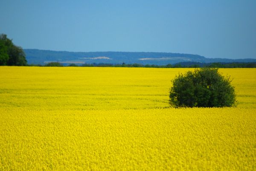
[[[23,49],[15,46],[7,35],[0,34],[0,65],[24,66],[27,65]]]

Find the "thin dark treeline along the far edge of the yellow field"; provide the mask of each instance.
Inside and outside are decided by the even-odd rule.
[[[45,65],[28,65],[28,66],[38,66],[38,67],[141,67],[141,68],[256,68],[256,62],[233,62],[233,63],[199,63],[199,62],[182,62],[177,64],[167,64],[167,65],[143,65],[143,64],[69,64],[63,65],[60,62],[50,62]]]

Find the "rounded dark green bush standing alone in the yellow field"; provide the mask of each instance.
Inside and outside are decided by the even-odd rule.
[[[231,107],[236,92],[230,76],[216,68],[201,68],[176,75],[172,80],[170,102],[175,107]]]

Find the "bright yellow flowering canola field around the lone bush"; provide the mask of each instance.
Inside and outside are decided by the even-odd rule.
[[[234,108],[171,108],[192,69],[0,67],[0,171],[256,170],[256,69]]]

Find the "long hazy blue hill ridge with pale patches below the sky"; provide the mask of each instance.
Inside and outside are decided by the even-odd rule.
[[[38,49],[23,49],[28,64],[47,64],[60,62],[64,65],[74,64],[154,64],[166,65],[180,62],[256,62],[256,59],[205,58],[201,55],[166,53],[166,52],[66,52]]]

